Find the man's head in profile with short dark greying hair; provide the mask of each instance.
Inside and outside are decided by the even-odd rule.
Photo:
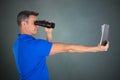
[[[37,33],[38,26],[34,25],[38,13],[34,11],[21,11],[17,15],[17,24],[21,28],[21,33],[34,35]]]

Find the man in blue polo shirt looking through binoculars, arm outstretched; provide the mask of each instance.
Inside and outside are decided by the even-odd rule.
[[[46,65],[46,56],[57,53],[86,53],[107,51],[106,46],[83,46],[76,44],[64,44],[52,42],[52,29],[45,28],[46,38],[35,39],[39,26],[34,25],[38,13],[33,11],[22,11],[17,16],[17,23],[20,26],[20,34],[14,43],[14,56],[21,80],[49,80]]]

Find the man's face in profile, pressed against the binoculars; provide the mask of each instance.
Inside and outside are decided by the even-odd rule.
[[[26,30],[29,34],[35,35],[38,31],[38,26],[34,25],[34,22],[37,20],[37,17],[30,15],[28,21],[26,22]]]

